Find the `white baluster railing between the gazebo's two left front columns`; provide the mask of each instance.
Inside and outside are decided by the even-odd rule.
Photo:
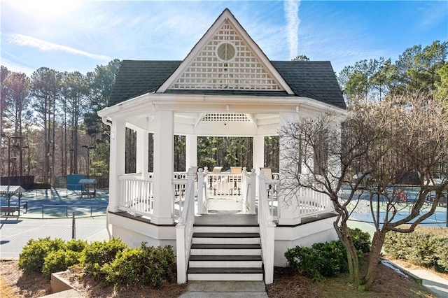
[[[120,176],[118,180],[122,192],[118,209],[137,215],[151,216],[154,208],[153,178],[144,178],[134,173]]]

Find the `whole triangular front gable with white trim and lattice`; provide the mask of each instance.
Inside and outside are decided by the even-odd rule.
[[[294,94],[228,8],[156,92],[166,90],[262,90]]]

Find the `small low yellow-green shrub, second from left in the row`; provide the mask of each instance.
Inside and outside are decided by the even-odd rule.
[[[65,271],[74,264],[80,263],[80,252],[73,250],[55,250],[45,257],[42,273],[50,277],[52,273]]]

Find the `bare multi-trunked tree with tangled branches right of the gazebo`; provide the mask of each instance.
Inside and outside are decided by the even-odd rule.
[[[433,215],[447,189],[448,115],[429,94],[412,92],[379,104],[358,103],[346,120],[338,123],[327,113],[283,127],[286,150],[280,158],[286,172],[281,191],[286,204],[298,204],[299,208],[295,194],[300,187],[330,197],[351,280],[358,290],[368,290],[386,233],[413,232]],[[418,192],[405,204],[398,190],[407,176],[415,177]],[[429,194],[433,194],[430,201]],[[347,226],[361,199],[367,199],[375,227],[365,276],[360,276],[358,254]],[[405,216],[398,215],[405,211]]]

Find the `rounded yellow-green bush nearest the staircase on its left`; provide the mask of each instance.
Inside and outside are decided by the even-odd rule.
[[[110,264],[105,264],[102,273],[106,281],[114,285],[151,285],[160,288],[165,281],[174,278],[176,258],[171,246],[127,248],[117,254]]]

